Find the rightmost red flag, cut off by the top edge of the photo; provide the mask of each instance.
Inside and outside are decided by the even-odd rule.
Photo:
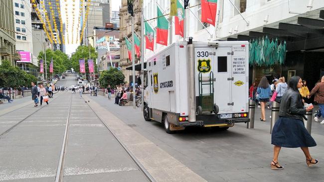
[[[215,26],[217,0],[201,0],[201,22]]]

